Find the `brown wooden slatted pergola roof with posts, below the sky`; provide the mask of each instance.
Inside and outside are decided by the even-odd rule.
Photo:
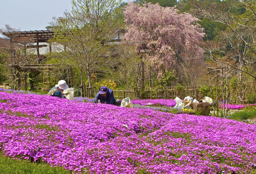
[[[45,45],[40,45],[39,42],[47,42],[49,39],[55,37],[53,30],[35,30],[35,31],[16,31],[16,32],[3,32],[3,35],[10,38],[10,40],[14,39],[16,42],[19,40],[27,40],[28,43],[37,43],[37,58],[39,59],[39,47],[43,47]],[[29,46],[33,47],[33,46]],[[50,45],[51,50],[51,45]]]

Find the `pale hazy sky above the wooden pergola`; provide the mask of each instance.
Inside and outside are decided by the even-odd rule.
[[[0,0],[0,28],[9,24],[20,31],[45,30],[52,17],[71,11],[71,0]]]

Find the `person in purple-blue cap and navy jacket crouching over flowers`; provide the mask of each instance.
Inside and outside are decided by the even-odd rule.
[[[111,105],[120,106],[121,101],[114,98],[113,91],[106,86],[101,86],[98,94],[96,97],[92,100],[92,103],[106,103]]]

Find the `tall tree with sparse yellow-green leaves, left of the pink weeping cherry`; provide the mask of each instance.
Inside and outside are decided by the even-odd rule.
[[[106,59],[114,53],[109,42],[121,26],[117,24],[121,15],[121,0],[72,0],[72,11],[63,17],[53,18],[50,23],[56,38],[50,42],[59,45],[56,57],[62,62],[79,66],[85,70],[91,87],[91,72],[99,70]]]

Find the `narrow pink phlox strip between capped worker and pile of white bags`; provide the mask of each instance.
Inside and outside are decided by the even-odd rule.
[[[131,100],[132,104],[140,104],[140,105],[147,105],[150,103],[151,105],[155,103],[160,103],[161,105],[165,105],[167,107],[172,107],[176,105],[174,99],[147,99],[147,100]]]

